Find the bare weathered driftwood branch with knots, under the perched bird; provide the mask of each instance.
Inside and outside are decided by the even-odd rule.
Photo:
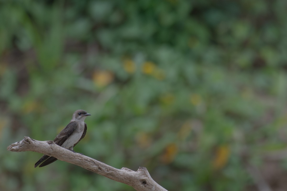
[[[53,141],[36,141],[30,137],[24,137],[22,141],[8,146],[7,150],[14,152],[34,151],[53,156],[58,160],[75,164],[117,182],[125,183],[137,191],[167,191],[152,179],[145,167],[139,167],[137,171],[125,167],[121,169],[113,168],[85,155],[73,153],[56,145]]]

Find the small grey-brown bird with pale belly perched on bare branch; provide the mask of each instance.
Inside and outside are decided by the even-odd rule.
[[[73,151],[73,147],[82,140],[87,132],[87,124],[84,122],[87,116],[91,114],[86,111],[79,109],[74,112],[70,123],[57,135],[54,142],[70,151]],[[43,155],[38,162],[35,163],[35,168],[37,166],[43,167],[52,162],[55,162],[57,158],[48,155]]]

